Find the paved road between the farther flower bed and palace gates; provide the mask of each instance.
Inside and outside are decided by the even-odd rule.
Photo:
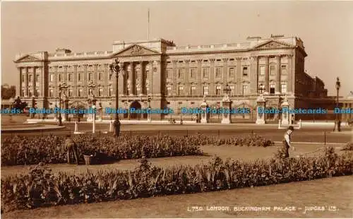
[[[74,124],[64,124],[67,128],[58,131],[30,131],[23,132],[19,135],[65,135],[72,134],[74,130]],[[92,131],[92,124],[80,124],[79,131]],[[109,124],[96,124],[96,134],[103,134],[104,131],[109,129]],[[349,134],[347,128],[342,129],[342,133],[335,134],[332,132],[330,127],[308,127],[304,129],[296,129],[293,134],[293,141],[299,142],[322,142],[327,143],[345,143],[352,141],[352,134]],[[229,137],[229,136],[248,136],[251,133],[261,135],[272,141],[282,141],[282,136],[285,129],[277,129],[275,125],[267,126],[256,126],[253,124],[232,124],[232,125],[221,125],[221,124],[208,124],[208,125],[196,125],[196,124],[124,124],[121,126],[121,133],[128,135],[156,135],[156,134],[167,134],[167,135],[196,135],[202,133],[206,135]],[[1,134],[3,136],[11,136],[15,134]]]

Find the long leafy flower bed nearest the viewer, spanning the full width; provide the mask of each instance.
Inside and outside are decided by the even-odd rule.
[[[208,164],[170,168],[151,167],[147,160],[132,171],[109,170],[93,174],[54,175],[43,165],[28,174],[1,179],[5,211],[42,206],[191,194],[241,187],[304,181],[352,174],[352,152],[333,148],[312,158],[244,162],[213,158]]]

